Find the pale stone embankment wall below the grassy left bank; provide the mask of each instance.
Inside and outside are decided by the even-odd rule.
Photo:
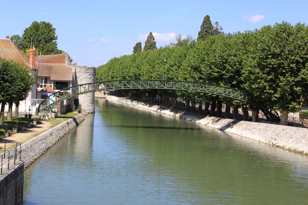
[[[80,122],[84,120],[82,114],[65,121],[56,127],[50,128],[50,130],[22,143],[22,155],[25,168],[34,162],[39,156],[46,152],[52,145],[59,141],[64,135],[71,131],[74,127],[78,126]]]

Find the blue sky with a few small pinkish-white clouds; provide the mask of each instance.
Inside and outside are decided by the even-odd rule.
[[[308,1],[1,1],[0,38],[22,35],[33,21],[50,22],[58,48],[78,65],[100,66],[132,54],[152,31],[156,45],[178,34],[197,38],[205,15],[223,31],[253,30],[275,22],[308,23]]]

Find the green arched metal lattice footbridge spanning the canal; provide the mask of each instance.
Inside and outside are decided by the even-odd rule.
[[[123,89],[173,89],[216,94],[219,96],[224,96],[246,102],[253,107],[256,107],[257,109],[261,110],[265,114],[267,119],[279,119],[279,115],[277,112],[273,114],[270,109],[267,109],[264,106],[264,103],[256,101],[256,99],[251,94],[243,90],[237,90],[230,87],[212,85],[201,82],[186,82],[173,80],[110,80],[75,85],[49,95],[42,103],[39,104],[39,110],[52,111],[53,107],[55,107],[59,102],[67,98],[74,97],[76,95],[103,90],[107,91]]]

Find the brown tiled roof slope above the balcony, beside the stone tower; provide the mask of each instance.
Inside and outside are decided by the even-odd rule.
[[[73,78],[72,67],[63,63],[35,63],[38,76],[50,77],[51,80],[71,81]]]

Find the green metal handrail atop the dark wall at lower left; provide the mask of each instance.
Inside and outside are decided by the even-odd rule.
[[[7,163],[7,170],[10,169],[10,160],[14,159],[14,165],[16,164],[16,159],[17,156],[19,155],[19,161],[21,161],[21,143],[8,151],[6,151],[6,144],[11,144],[11,143],[1,143],[4,144],[4,152],[0,155],[1,157],[1,168],[0,168],[0,175],[2,175],[2,170],[3,170],[3,165]],[[19,150],[18,150],[19,147]]]

